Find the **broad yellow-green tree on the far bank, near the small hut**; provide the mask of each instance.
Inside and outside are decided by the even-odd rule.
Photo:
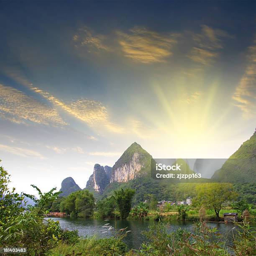
[[[205,183],[196,187],[197,196],[193,204],[205,205],[208,209],[214,210],[216,217],[220,218],[220,210],[229,201],[236,200],[237,194],[230,183]]]

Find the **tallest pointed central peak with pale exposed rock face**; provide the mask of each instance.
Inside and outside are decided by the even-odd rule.
[[[149,172],[150,161],[151,155],[134,142],[113,166],[110,182],[128,182]]]

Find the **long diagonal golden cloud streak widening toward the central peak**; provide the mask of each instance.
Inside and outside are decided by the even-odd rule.
[[[37,87],[31,89],[56,107],[60,107],[75,118],[84,121],[90,127],[107,128],[108,131],[113,133],[124,133],[122,127],[110,122],[107,108],[99,101],[81,98],[73,102],[64,102]]]

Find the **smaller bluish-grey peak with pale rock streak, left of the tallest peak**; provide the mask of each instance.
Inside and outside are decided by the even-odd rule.
[[[94,189],[100,194],[103,192],[105,187],[109,184],[109,175],[111,172],[111,167],[100,166],[100,164],[95,164],[93,173],[86,183],[86,189]]]

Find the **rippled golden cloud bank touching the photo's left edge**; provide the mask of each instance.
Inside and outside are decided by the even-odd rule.
[[[14,123],[66,124],[55,109],[3,84],[0,84],[0,116]]]

